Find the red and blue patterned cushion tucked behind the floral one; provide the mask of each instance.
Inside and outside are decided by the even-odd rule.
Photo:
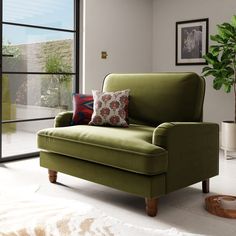
[[[93,114],[93,96],[86,94],[73,94],[72,125],[87,125]]]

